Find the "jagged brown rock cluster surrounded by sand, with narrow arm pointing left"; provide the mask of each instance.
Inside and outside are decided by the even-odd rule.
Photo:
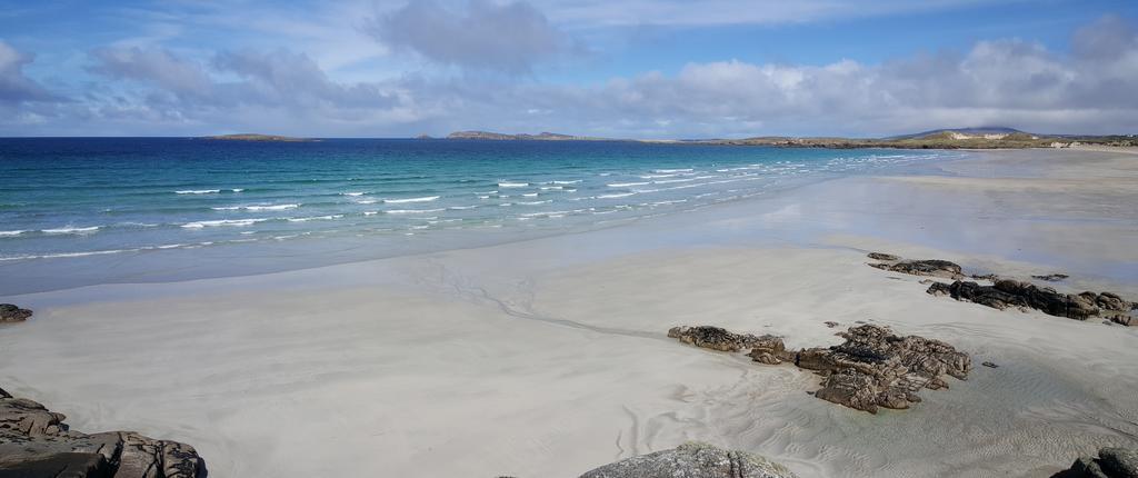
[[[668,337],[721,352],[751,348],[748,356],[765,364],[792,362],[824,376],[818,398],[876,413],[879,407],[908,409],[923,388],[947,388],[942,376],[967,378],[972,360],[953,346],[918,336],[900,337],[879,325],[859,325],[840,333],[833,347],[787,351],[781,338],[734,333],[717,327],[676,327]]]

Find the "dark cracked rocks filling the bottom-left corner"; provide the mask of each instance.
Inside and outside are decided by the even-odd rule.
[[[133,431],[82,434],[61,413],[0,389],[0,477],[201,478],[192,446]]]

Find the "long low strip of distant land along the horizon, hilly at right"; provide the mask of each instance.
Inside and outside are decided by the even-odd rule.
[[[784,148],[898,148],[898,149],[1021,149],[1070,148],[1082,145],[1133,147],[1138,135],[1033,134],[1006,126],[959,127],[924,131],[889,138],[841,137],[754,137],[743,139],[633,140],[543,132],[506,134],[487,131],[459,131],[446,139],[493,141],[636,141],[681,145],[777,146]]]

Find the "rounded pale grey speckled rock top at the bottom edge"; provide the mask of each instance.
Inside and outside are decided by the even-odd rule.
[[[762,456],[702,443],[621,460],[580,478],[793,478],[786,467]]]

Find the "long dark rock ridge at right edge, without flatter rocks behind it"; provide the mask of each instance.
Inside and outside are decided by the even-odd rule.
[[[1074,320],[1102,316],[1125,325],[1133,321],[1131,311],[1136,307],[1135,304],[1111,292],[1062,294],[1050,287],[1037,287],[1009,279],[997,280],[991,286],[971,281],[955,281],[950,285],[934,282],[927,292],[992,308],[1034,308],[1049,315]]]

